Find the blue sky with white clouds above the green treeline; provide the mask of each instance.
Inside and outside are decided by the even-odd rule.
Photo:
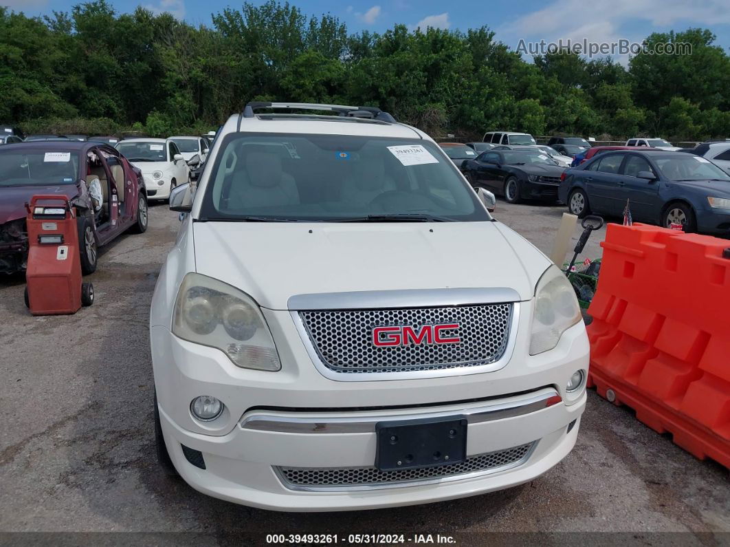
[[[26,15],[67,11],[76,1],[0,0]],[[118,12],[142,5],[155,12],[171,12],[194,25],[210,25],[212,13],[239,8],[242,0],[110,0]],[[253,0],[253,4],[261,4]],[[382,32],[396,23],[409,28],[460,29],[486,25],[496,39],[517,49],[525,42],[558,39],[590,42],[641,42],[652,32],[689,27],[710,28],[717,45],[730,53],[729,0],[290,0],[308,15],[331,13],[347,23],[350,32]],[[529,60],[529,56],[526,56]],[[618,56],[617,56],[618,58]]]

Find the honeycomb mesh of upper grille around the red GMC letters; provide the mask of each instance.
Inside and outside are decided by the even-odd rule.
[[[402,372],[475,367],[498,361],[507,348],[512,304],[458,307],[397,308],[390,310],[302,311],[320,360],[337,372]],[[458,323],[455,344],[418,344],[377,347],[376,326]],[[452,334],[448,332],[448,334]]]

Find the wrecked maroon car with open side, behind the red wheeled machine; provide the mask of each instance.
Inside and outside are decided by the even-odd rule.
[[[99,179],[101,199],[90,185]],[[26,202],[68,196],[76,207],[81,269],[96,269],[97,248],[147,229],[145,184],[117,150],[98,142],[21,142],[0,147],[0,272],[23,272],[28,256]],[[111,199],[110,199],[111,197]]]

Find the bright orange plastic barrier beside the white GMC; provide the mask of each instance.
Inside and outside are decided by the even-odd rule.
[[[730,468],[730,242],[609,224],[588,386]]]

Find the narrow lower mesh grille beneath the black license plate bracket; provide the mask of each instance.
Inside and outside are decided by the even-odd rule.
[[[493,470],[504,465],[515,464],[526,458],[533,445],[534,443],[527,443],[507,448],[507,450],[479,454],[458,464],[438,467],[415,467],[395,471],[380,471],[376,467],[276,467],[276,469],[284,478],[285,486],[334,488],[396,484]]]

